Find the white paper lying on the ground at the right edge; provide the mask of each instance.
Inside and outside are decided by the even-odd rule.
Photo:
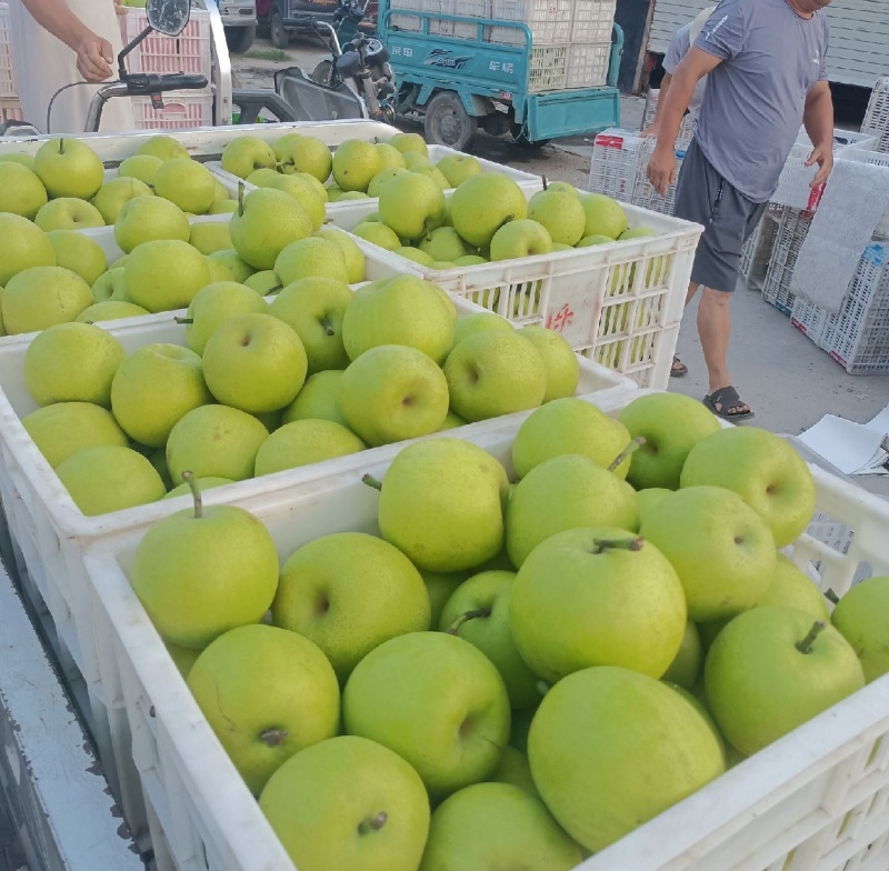
[[[889,474],[889,406],[869,423],[826,414],[797,438],[843,474]]]

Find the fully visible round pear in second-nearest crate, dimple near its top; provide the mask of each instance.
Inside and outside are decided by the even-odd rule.
[[[251,413],[289,406],[306,381],[299,336],[271,314],[238,314],[203,348],[203,377],[219,402]]]

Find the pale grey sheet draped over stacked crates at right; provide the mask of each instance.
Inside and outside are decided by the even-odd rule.
[[[837,314],[887,208],[886,167],[838,159],[800,248],[790,292]]]

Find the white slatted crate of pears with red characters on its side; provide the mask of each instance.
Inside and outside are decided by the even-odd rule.
[[[351,230],[374,208],[357,200],[330,219]],[[389,251],[381,256],[515,323],[556,330],[576,351],[640,387],[665,389],[702,228],[623,208],[630,226],[649,227],[657,236],[446,271]]]

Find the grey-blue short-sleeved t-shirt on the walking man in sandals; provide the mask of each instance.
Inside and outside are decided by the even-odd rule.
[[[753,202],[778,187],[806,96],[827,80],[829,26],[787,0],[722,0],[696,48],[720,58],[708,76],[698,144],[713,168]]]

